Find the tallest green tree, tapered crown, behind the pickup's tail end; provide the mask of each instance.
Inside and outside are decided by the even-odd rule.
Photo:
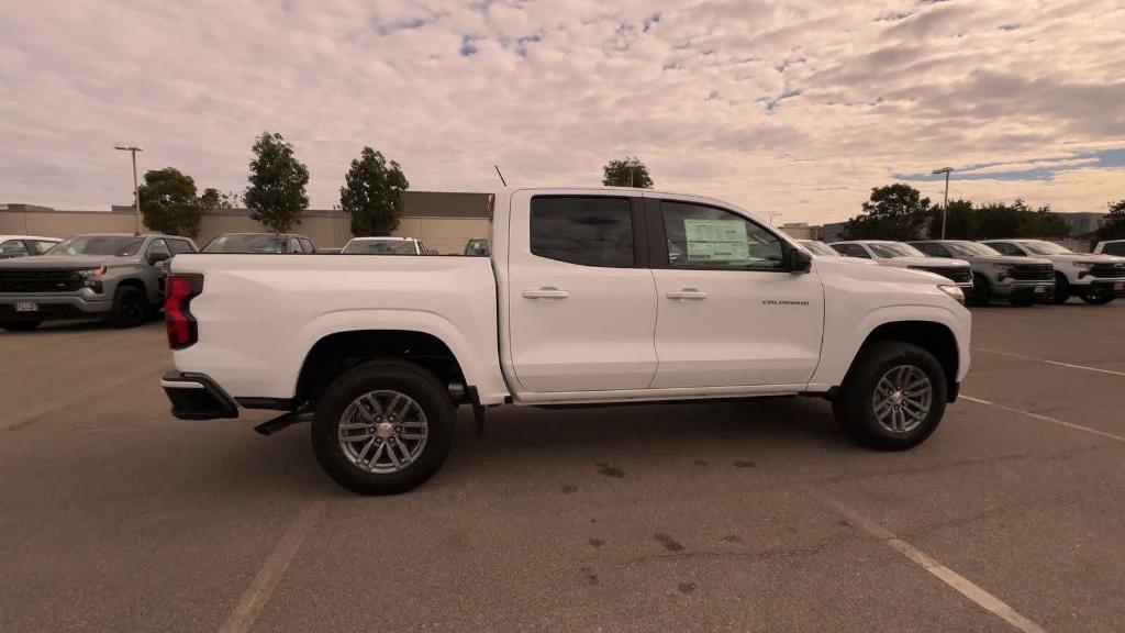
[[[250,186],[243,195],[250,217],[271,231],[286,233],[300,224],[300,214],[308,208],[308,168],[297,160],[292,144],[280,134],[262,132],[252,150]]]

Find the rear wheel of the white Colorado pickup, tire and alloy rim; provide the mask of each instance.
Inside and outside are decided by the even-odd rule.
[[[446,462],[456,417],[448,390],[423,367],[366,363],[336,378],[321,398],[313,452],[324,472],[353,492],[406,492]]]

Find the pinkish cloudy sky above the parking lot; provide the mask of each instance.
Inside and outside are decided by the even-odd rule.
[[[0,202],[132,202],[128,157],[241,191],[280,132],[317,207],[363,145],[412,188],[658,188],[786,222],[958,170],[951,197],[1125,197],[1125,1],[8,2]]]

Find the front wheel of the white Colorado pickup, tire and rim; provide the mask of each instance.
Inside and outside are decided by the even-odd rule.
[[[856,357],[832,411],[844,431],[879,451],[904,451],[926,440],[942,421],[945,372],[925,349],[878,341]]]

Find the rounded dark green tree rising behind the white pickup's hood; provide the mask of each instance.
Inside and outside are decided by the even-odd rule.
[[[863,213],[847,221],[844,235],[850,240],[917,240],[934,209],[929,198],[910,185],[874,187],[871,199],[863,203]]]

